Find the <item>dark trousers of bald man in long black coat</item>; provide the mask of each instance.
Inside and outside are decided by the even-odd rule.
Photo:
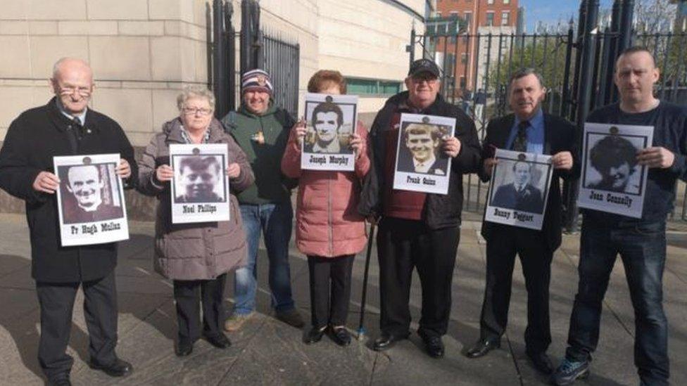
[[[72,328],[76,292],[84,291],[84,319],[88,328],[91,361],[112,364],[117,355],[117,289],[115,273],[82,283],[36,282],[41,309],[41,338],[38,361],[49,380],[65,378],[74,359],[66,353]]]

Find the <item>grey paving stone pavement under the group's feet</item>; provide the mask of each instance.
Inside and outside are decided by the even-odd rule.
[[[376,256],[370,264],[364,340],[349,347],[326,337],[317,345],[303,345],[304,330],[277,321],[270,311],[265,251],[258,257],[258,314],[237,333],[229,334],[232,347],[215,349],[199,341],[191,356],[179,359],[173,351],[176,334],[172,286],[153,272],[153,224],[132,222],[131,239],[120,244],[117,268],[119,299],[118,354],[131,361],[134,373],[109,378],[86,366],[88,335],[82,294],[74,309],[68,348],[75,358],[75,385],[543,385],[524,354],[527,293],[516,264],[508,332],[500,349],[481,359],[462,355],[479,336],[479,311],[484,291],[484,241],[479,222],[465,221],[453,281],[453,309],[446,358],[431,359],[422,352],[416,334],[393,349],[370,349],[379,332],[379,271]],[[39,313],[30,276],[30,246],[23,215],[0,214],[0,385],[42,385],[37,363]],[[672,383],[687,384],[687,233],[671,232],[664,274],[664,307],[669,321]],[[576,291],[579,236],[565,236],[553,262],[549,349],[555,363],[565,352],[572,300]],[[353,267],[353,294],[348,328],[355,331],[360,316],[364,256]],[[305,257],[291,247],[294,297],[309,319],[308,269]],[[225,292],[231,308],[233,282]],[[420,285],[413,278],[411,312],[420,316]],[[599,348],[591,377],[579,385],[637,385],[633,364],[634,315],[622,264],[617,262],[604,301]],[[413,324],[414,328],[417,324]]]

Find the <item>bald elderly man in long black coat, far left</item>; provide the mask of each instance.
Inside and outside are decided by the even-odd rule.
[[[87,107],[93,91],[87,63],[58,60],[51,84],[55,98],[23,112],[7,131],[0,150],[0,188],[26,202],[32,276],[41,309],[40,366],[50,385],[70,385],[73,359],[66,348],[80,286],[90,338],[89,366],[111,376],[127,375],[132,366],[115,354],[117,245],[61,246],[55,192],[65,181],[56,176],[53,157],[120,153],[116,172],[125,186],[137,175],[137,167],[119,124]]]

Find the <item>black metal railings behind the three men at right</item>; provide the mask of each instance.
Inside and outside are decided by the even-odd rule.
[[[543,109],[576,122],[581,130],[590,110],[617,101],[614,61],[619,51],[632,45],[645,46],[654,54],[661,69],[655,86],[657,97],[687,104],[687,33],[632,32],[626,37],[619,31],[622,20],[616,9],[616,25],[599,33],[594,28],[595,13],[582,9],[586,7],[585,1],[582,3],[581,20],[591,18],[593,24],[578,25],[575,29],[571,22],[567,32],[449,35],[438,30],[431,36],[412,32],[409,51],[420,44],[423,56],[439,63],[443,96],[474,119],[480,140],[484,139],[486,124],[492,117],[508,113],[508,80],[512,72],[522,67],[533,67],[543,75],[547,89]],[[631,14],[623,16],[631,18]],[[465,210],[481,212],[488,184],[473,175],[467,176],[466,184]],[[564,191],[568,196],[564,209],[574,223],[576,183],[565,186]],[[676,191],[679,209],[675,214],[687,220],[685,184],[680,182]]]

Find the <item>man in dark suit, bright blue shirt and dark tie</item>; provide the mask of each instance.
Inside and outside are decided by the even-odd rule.
[[[548,290],[553,252],[561,242],[561,200],[559,177],[574,176],[579,161],[573,158],[575,127],[560,117],[541,110],[546,94],[541,75],[535,70],[515,72],[510,80],[509,103],[515,114],[489,122],[484,140],[480,177],[491,178],[496,160],[487,149],[505,148],[520,152],[550,154],[555,169],[548,193],[541,231],[482,223],[486,239],[486,289],[480,316],[480,337],[470,347],[469,358],[484,356],[499,347],[508,321],[508,304],[515,255],[519,255],[527,287],[527,356],[542,373],[551,373],[553,364],[546,355],[551,342]],[[576,156],[575,156],[576,157]]]

